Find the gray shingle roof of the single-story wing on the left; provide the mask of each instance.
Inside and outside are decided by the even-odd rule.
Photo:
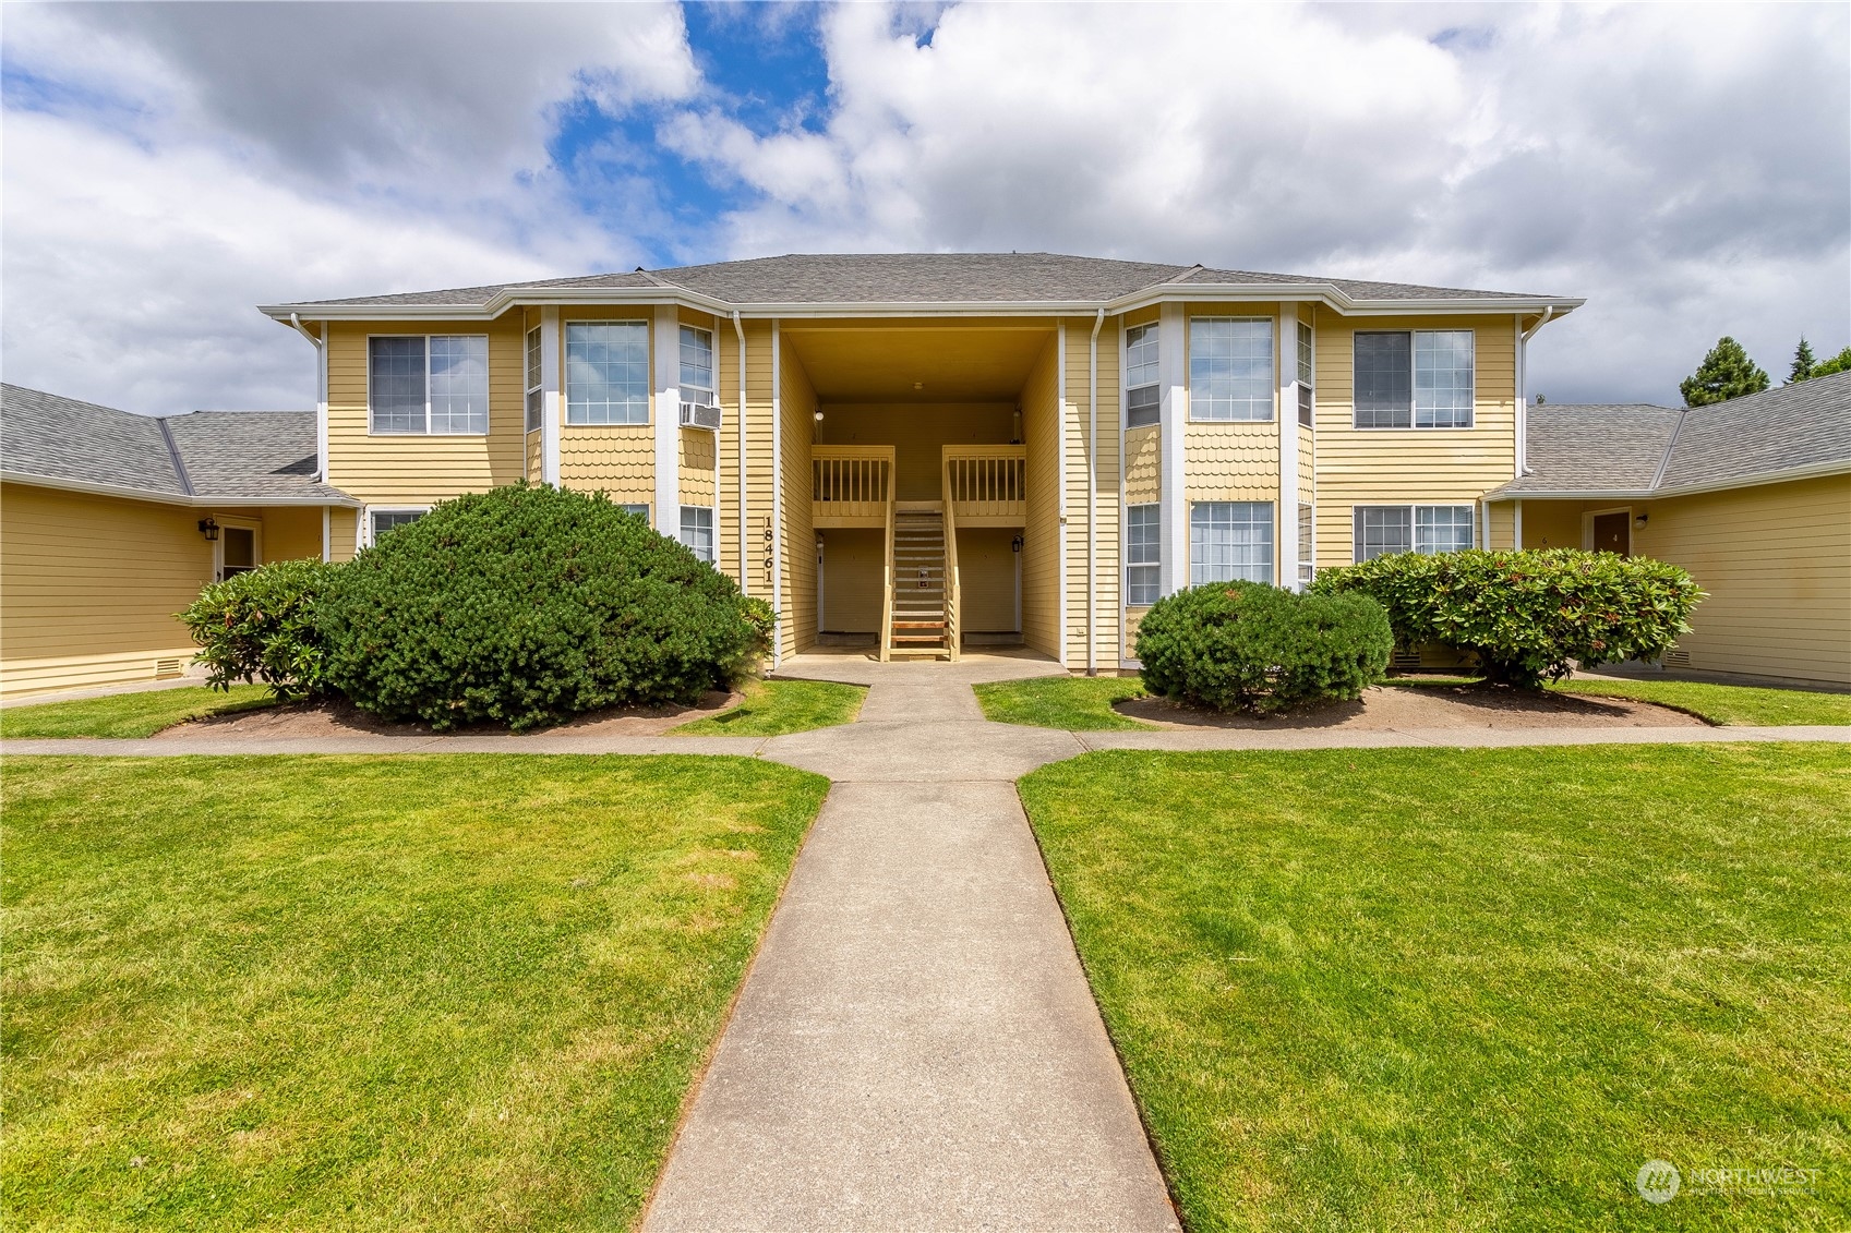
[[[0,385],[0,470],[180,502],[355,504],[315,481],[313,411],[155,418]]]

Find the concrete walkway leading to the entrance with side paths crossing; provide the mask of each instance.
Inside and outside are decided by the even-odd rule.
[[[644,1229],[1175,1229],[1014,779],[1087,750],[1851,741],[1851,728],[1203,729],[990,724],[974,681],[1059,674],[801,655],[872,685],[790,737],[7,741],[6,754],[744,754],[829,776]]]

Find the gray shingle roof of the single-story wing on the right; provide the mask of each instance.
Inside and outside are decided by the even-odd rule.
[[[1542,405],[1529,472],[1497,496],[1651,492],[1851,467],[1851,372],[1707,407]]]

